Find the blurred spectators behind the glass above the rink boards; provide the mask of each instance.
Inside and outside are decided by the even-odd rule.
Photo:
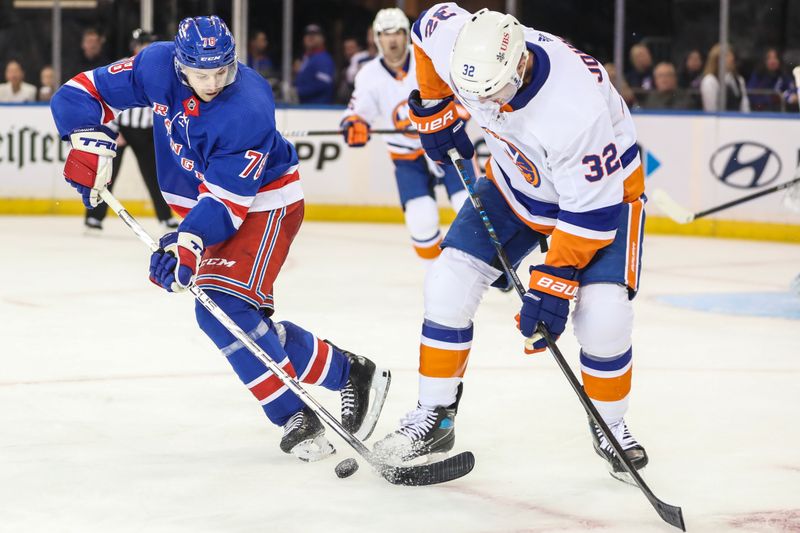
[[[264,30],[250,32],[247,63],[269,81],[279,101],[346,104],[359,68],[377,55],[372,29],[361,35],[345,36],[336,43],[340,49],[333,55],[320,25],[307,25],[302,37],[303,53],[292,64],[292,90],[288,95],[281,91],[281,71],[270,53],[269,37]],[[719,54],[720,46],[715,44],[707,51],[691,50],[678,65],[665,58],[654,62],[645,39],[629,49],[628,66],[621,79],[614,64],[606,63],[605,67],[633,109],[720,111],[718,95],[722,80],[726,88],[724,111],[798,111],[796,86],[778,49],[765,50],[752,72],[739,71],[732,48],[725,60],[725,72],[720,72]],[[84,29],[77,57],[71,64],[63,65],[64,80],[115,59],[106,52],[102,31],[93,27]],[[334,57],[341,59],[337,63]],[[55,89],[52,67],[42,68],[37,80],[27,75],[20,61],[11,59],[5,64],[0,102],[46,102]]]

